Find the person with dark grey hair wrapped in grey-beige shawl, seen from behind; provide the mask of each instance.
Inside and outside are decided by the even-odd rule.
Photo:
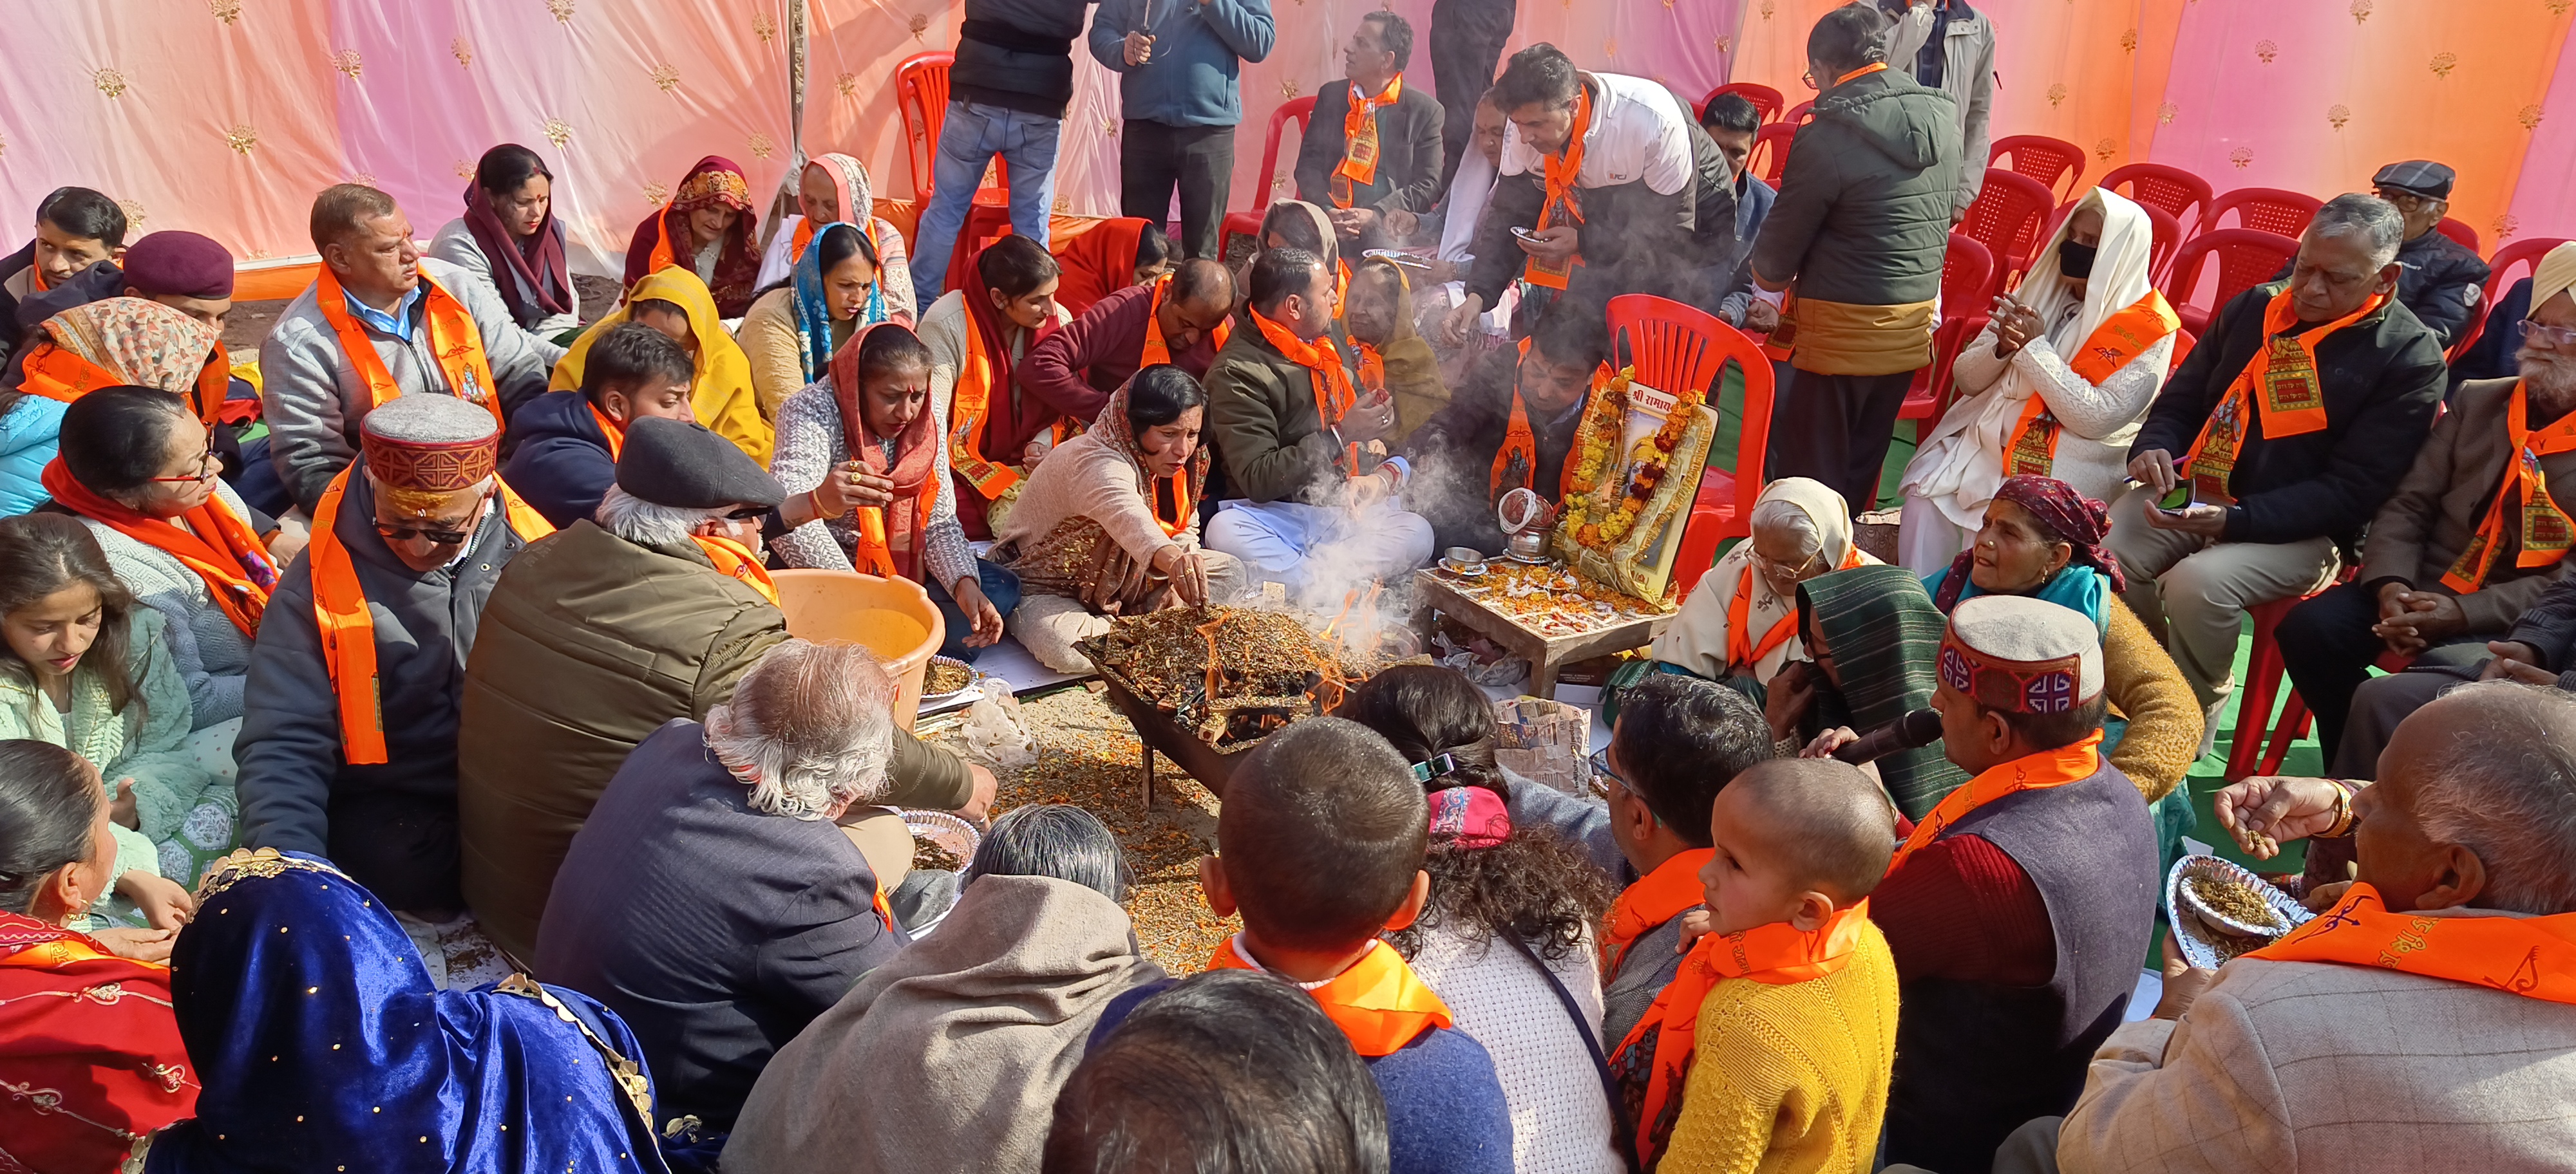
[[[1118,906],[1126,886],[1118,837],[1090,811],[997,819],[940,932],[770,1058],[724,1169],[1038,1174],[1048,1110],[1100,1009],[1164,978]]]

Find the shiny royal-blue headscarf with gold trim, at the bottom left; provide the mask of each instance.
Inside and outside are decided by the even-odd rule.
[[[438,991],[417,953],[317,857],[216,862],[170,955],[198,1115],[147,1169],[670,1169],[616,1014],[526,976]]]

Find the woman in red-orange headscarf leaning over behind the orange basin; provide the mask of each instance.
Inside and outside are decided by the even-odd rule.
[[[881,322],[832,355],[824,378],[778,415],[770,463],[817,520],[778,538],[788,566],[912,579],[948,620],[945,657],[974,659],[1002,638],[1020,582],[974,556],[948,481],[948,438],[930,409],[930,348]],[[845,479],[853,510],[827,515],[819,487]]]

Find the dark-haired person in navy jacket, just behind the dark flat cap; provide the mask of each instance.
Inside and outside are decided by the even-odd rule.
[[[680,342],[641,322],[618,322],[590,342],[580,391],[546,391],[510,417],[510,481],[556,528],[590,517],[618,479],[626,425],[641,417],[696,420],[698,368]]]

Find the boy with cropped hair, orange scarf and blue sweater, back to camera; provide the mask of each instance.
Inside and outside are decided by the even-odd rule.
[[[1211,971],[1267,971],[1306,989],[1386,1097],[1394,1174],[1507,1174],[1512,1117],[1494,1061],[1378,940],[1430,893],[1430,803],[1412,765],[1368,726],[1314,718],[1234,767],[1216,855],[1198,883],[1216,917],[1244,914]],[[1110,1002],[1092,1050],[1164,983]]]

